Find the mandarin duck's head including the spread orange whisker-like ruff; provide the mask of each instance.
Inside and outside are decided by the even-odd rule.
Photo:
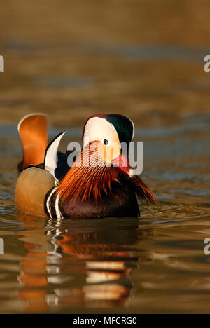
[[[67,198],[102,198],[111,192],[112,182],[130,183],[141,199],[154,203],[155,196],[137,176],[133,175],[122,143],[129,145],[134,137],[134,123],[119,114],[90,116],[83,126],[83,149],[67,172],[57,193]]]

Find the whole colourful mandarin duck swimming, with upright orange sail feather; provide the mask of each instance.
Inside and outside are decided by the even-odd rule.
[[[119,114],[87,118],[83,147],[71,168],[67,163],[68,152],[57,151],[65,132],[48,145],[45,115],[25,116],[18,131],[23,161],[18,165],[15,204],[20,212],[57,219],[139,217],[137,198],[156,203],[152,191],[138,175],[133,175],[122,154],[121,143],[129,144],[134,136],[130,118]],[[104,156],[105,153],[109,156]],[[97,164],[86,165],[95,158]],[[127,164],[122,165],[125,160]]]

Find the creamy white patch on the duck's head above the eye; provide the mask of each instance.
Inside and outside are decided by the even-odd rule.
[[[90,118],[85,125],[83,146],[85,147],[89,142],[94,141],[99,141],[104,144],[104,140],[107,140],[110,145],[114,142],[118,142],[118,144],[120,144],[116,128],[111,123],[106,121],[106,118]]]

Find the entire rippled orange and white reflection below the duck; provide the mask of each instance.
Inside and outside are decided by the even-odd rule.
[[[49,221],[43,232],[25,231],[24,259],[19,281],[20,299],[27,301],[26,311],[48,311],[50,307],[123,305],[130,297],[130,274],[144,257],[137,245],[151,238],[152,231],[138,228],[137,219],[69,221],[65,225]],[[29,223],[29,217],[22,217]],[[31,222],[29,230],[31,229]],[[43,223],[43,222],[42,222]]]

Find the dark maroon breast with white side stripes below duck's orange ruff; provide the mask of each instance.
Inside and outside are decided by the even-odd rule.
[[[94,219],[102,217],[138,217],[139,205],[134,190],[130,188],[130,184],[123,182],[122,184],[112,182],[112,193],[102,194],[102,198],[95,200],[93,197],[88,200],[80,201],[79,198],[64,200],[63,203],[56,202],[56,191],[50,190],[45,198],[45,203],[49,203],[50,211],[45,206],[45,212],[50,217],[69,217],[71,219]],[[55,189],[54,189],[55,190]],[[50,197],[51,194],[51,197]],[[56,212],[57,211],[57,212]]]

